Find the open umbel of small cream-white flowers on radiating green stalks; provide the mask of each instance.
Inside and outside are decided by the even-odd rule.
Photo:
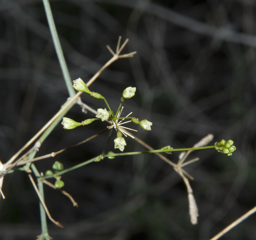
[[[139,121],[135,117],[128,117],[129,115],[127,115],[126,117],[120,117],[120,113],[122,111],[122,110],[120,110],[120,108],[121,108],[122,104],[127,99],[130,99],[133,96],[135,96],[136,87],[127,87],[126,89],[124,89],[122,97],[121,97],[120,105],[119,105],[118,110],[116,111],[116,114],[114,114],[113,111],[111,110],[111,108],[110,108],[107,100],[105,99],[105,97],[102,96],[99,93],[91,92],[88,89],[88,86],[86,85],[86,83],[81,78],[78,78],[78,79],[73,81],[73,87],[79,92],[88,93],[92,97],[95,97],[97,99],[103,99],[105,101],[105,104],[106,104],[108,110],[107,110],[107,108],[98,108],[98,110],[97,110],[98,114],[95,116],[95,118],[86,119],[82,122],[77,122],[77,121],[75,121],[73,119],[70,119],[68,117],[63,117],[63,121],[62,121],[61,124],[63,125],[64,129],[70,130],[70,129],[74,129],[74,128],[79,127],[79,126],[88,125],[88,124],[92,123],[95,120],[102,120],[102,122],[104,122],[104,121],[112,122],[113,125],[109,126],[109,128],[114,127],[116,129],[116,132],[117,132],[117,136],[114,140],[114,147],[118,148],[120,151],[123,151],[124,147],[126,146],[126,141],[123,138],[123,134],[125,136],[129,135],[124,131],[124,129],[126,128],[126,127],[123,127],[124,123],[128,123],[128,122],[132,121],[133,123],[139,124],[140,127],[142,127],[144,130],[151,130],[152,123],[150,121],[146,120],[146,119]],[[122,123],[122,126],[121,126],[121,122],[124,119],[129,119],[129,121]],[[128,129],[128,128],[126,128],[126,129]],[[133,129],[129,128],[129,130],[133,130]]]

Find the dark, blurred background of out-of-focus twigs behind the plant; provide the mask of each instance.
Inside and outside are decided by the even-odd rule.
[[[64,190],[45,187],[46,204],[61,240],[206,240],[256,205],[256,3],[254,0],[51,0],[60,42],[72,79],[88,81],[111,58],[119,36],[137,51],[112,64],[91,85],[116,109],[123,89],[137,87],[123,115],[133,112],[153,122],[137,137],[154,148],[191,147],[205,135],[235,141],[227,157],[196,151],[200,161],[185,169],[199,208],[199,223],[189,221],[186,187],[173,168],[153,154],[95,162],[63,175]],[[40,0],[0,1],[0,160],[17,152],[60,109],[68,92]],[[82,95],[97,109],[102,101]],[[74,106],[66,115],[81,121]],[[37,156],[58,151],[106,127],[92,123],[74,130],[61,124]],[[108,133],[56,158],[36,163],[39,171],[54,161],[71,167],[103,150]],[[114,136],[112,137],[112,140]],[[212,144],[214,144],[214,141]],[[125,151],[145,148],[126,138]],[[109,145],[108,150],[113,150]],[[177,162],[179,153],[167,155]],[[41,232],[39,202],[28,176],[4,179],[0,200],[0,239],[35,239]],[[255,240],[256,215],[221,239]]]

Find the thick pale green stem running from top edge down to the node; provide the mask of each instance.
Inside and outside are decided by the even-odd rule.
[[[75,90],[72,86],[70,75],[69,75],[69,72],[67,69],[67,64],[66,64],[66,61],[65,61],[65,58],[63,55],[61,45],[60,45],[60,39],[58,37],[56,26],[55,26],[55,23],[53,20],[53,14],[52,14],[52,10],[51,10],[50,4],[49,4],[49,0],[42,0],[42,1],[44,4],[44,7],[45,7],[47,21],[48,21],[49,28],[50,28],[50,31],[52,34],[54,47],[55,47],[55,50],[56,50],[56,53],[57,53],[57,56],[58,56],[58,59],[60,62],[60,67],[61,67],[62,74],[63,74],[63,77],[66,82],[68,93],[69,93],[70,97],[73,97],[73,96],[75,96]]]

